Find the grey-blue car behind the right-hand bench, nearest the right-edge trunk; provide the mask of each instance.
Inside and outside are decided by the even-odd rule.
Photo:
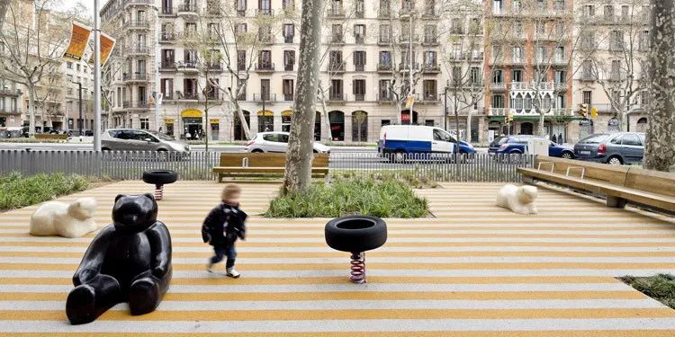
[[[644,133],[596,133],[574,146],[580,160],[613,165],[640,163],[644,156]]]

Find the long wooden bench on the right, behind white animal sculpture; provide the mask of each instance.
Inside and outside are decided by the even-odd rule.
[[[675,214],[675,173],[541,155],[535,168],[518,168],[518,173],[526,183],[554,182],[606,196],[608,207],[624,208],[626,202],[633,202]]]

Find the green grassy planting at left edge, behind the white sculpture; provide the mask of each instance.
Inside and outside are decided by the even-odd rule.
[[[0,210],[22,208],[53,200],[58,196],[83,191],[89,181],[81,175],[63,173],[23,176],[0,175]]]

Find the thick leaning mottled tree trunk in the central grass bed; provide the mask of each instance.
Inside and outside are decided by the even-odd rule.
[[[315,104],[319,86],[319,53],[323,0],[304,0],[300,24],[298,84],[293,103],[283,193],[304,191],[311,182]]]

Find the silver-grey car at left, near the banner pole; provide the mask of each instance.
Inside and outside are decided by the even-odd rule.
[[[189,153],[190,146],[163,133],[142,129],[109,129],[101,136],[103,151],[166,151]]]

